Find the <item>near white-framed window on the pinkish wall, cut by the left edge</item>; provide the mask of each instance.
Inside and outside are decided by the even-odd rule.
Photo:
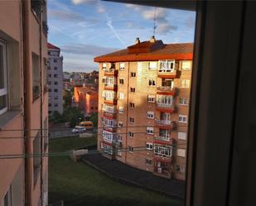
[[[0,40],[0,114],[7,111],[7,50]]]

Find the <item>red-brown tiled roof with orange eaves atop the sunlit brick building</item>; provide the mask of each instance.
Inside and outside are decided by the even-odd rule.
[[[159,41],[156,41],[159,42]],[[162,41],[161,41],[162,42]],[[159,43],[157,43],[159,44]],[[142,45],[142,47],[140,47]],[[168,44],[160,43],[156,48],[149,41],[144,41],[138,45],[128,46],[125,50],[118,50],[107,55],[100,55],[94,58],[95,62],[115,62],[115,61],[134,61],[134,60],[192,60],[193,59],[193,43]],[[148,51],[133,53],[129,48],[147,48]]]

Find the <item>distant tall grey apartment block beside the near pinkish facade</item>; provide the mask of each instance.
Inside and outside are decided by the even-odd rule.
[[[48,113],[54,111],[63,113],[63,56],[60,48],[47,44],[48,46]]]

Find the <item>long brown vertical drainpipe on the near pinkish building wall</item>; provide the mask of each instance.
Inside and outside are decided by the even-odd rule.
[[[23,15],[23,77],[24,77],[24,144],[25,154],[31,154],[31,106],[32,106],[32,85],[31,85],[31,50],[30,50],[30,8],[31,3],[22,0]],[[32,167],[33,159],[25,158],[25,205],[31,206],[32,192]]]

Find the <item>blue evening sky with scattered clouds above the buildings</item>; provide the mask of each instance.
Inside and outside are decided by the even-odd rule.
[[[165,44],[194,41],[196,12],[99,0],[48,0],[48,41],[60,47],[65,71],[98,69],[94,57],[153,35]]]

